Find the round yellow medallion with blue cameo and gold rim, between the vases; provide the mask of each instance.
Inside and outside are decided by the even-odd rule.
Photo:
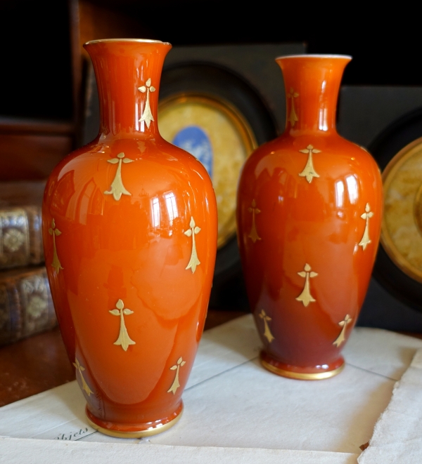
[[[193,154],[206,168],[218,210],[217,247],[236,235],[236,187],[245,159],[257,140],[234,105],[206,93],[177,93],[160,102],[160,133]]]

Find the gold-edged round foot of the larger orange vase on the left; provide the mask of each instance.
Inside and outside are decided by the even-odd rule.
[[[85,409],[85,413],[87,414],[89,425],[104,435],[110,435],[110,437],[117,438],[151,437],[151,435],[157,435],[158,433],[169,430],[179,421],[181,414],[183,413],[183,402],[181,402],[179,408],[174,413],[177,414],[176,417],[174,417],[174,414],[172,414],[172,417],[174,418],[170,420],[163,419],[158,423],[139,424],[139,427],[136,427],[136,425],[103,422],[102,420],[93,416],[88,408]]]

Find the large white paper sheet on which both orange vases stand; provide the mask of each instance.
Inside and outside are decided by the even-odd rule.
[[[260,340],[249,315],[204,333],[183,396],[184,416],[167,432],[148,439],[114,439],[95,432],[85,420],[84,397],[72,382],[0,408],[0,435],[163,449],[319,451],[318,456],[334,453],[339,463],[348,463],[350,456],[356,462],[359,446],[369,441],[390,401],[395,380],[419,347],[422,340],[354,329],[343,373],[316,382],[291,380],[260,366]]]

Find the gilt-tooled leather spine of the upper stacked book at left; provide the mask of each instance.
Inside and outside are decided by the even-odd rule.
[[[0,269],[44,261],[39,206],[0,209]]]

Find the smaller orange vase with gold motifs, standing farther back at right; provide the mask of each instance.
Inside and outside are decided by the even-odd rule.
[[[286,131],[246,161],[238,187],[238,242],[264,350],[280,376],[321,379],[340,354],[364,301],[381,228],[382,183],[362,147],[335,131],[350,57],[278,58]]]

